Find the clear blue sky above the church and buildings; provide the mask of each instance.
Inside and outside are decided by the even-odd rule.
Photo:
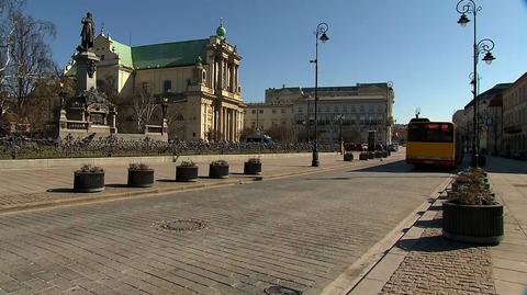
[[[479,38],[496,43],[496,60],[479,65],[481,92],[527,71],[527,0],[479,0]],[[203,38],[224,18],[227,41],[243,56],[247,102],[267,88],[314,86],[314,30],[329,25],[319,47],[319,86],[393,81],[395,118],[451,120],[471,99],[472,23],[461,29],[456,0],[29,0],[29,14],[57,25],[53,56],[64,66],[91,11],[99,32],[144,45]],[[469,15],[471,16],[471,15]]]

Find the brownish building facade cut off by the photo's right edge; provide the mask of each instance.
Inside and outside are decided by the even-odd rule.
[[[527,72],[503,93],[504,156],[527,159]]]

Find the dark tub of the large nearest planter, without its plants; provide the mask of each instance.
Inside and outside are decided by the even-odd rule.
[[[503,239],[503,205],[442,203],[442,236],[458,241],[497,245]]]

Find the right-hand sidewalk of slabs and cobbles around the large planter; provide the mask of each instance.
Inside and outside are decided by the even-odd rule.
[[[527,294],[527,164],[489,157],[486,170],[505,205],[498,246],[444,239],[436,198],[349,294]]]

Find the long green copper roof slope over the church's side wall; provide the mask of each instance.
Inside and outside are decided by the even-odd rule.
[[[209,39],[205,38],[132,47],[134,68],[148,69],[194,65],[198,56],[205,60],[206,44],[209,44]]]

